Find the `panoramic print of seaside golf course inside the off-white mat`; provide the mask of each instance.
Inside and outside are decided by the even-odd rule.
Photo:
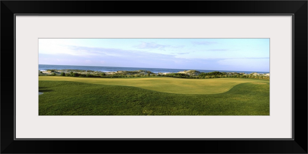
[[[39,115],[270,115],[270,39],[38,39]]]

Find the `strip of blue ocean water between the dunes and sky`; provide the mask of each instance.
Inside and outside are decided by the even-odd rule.
[[[116,71],[137,71],[137,70],[146,70],[153,73],[177,73],[180,71],[196,70],[196,69],[170,69],[170,68],[142,68],[142,67],[103,67],[103,66],[71,66],[71,65],[42,65],[39,64],[40,71],[46,70],[85,70],[85,71],[102,71],[102,72],[116,72]],[[237,73],[270,73],[270,72],[258,72],[258,71],[223,71],[223,70],[197,70],[200,72],[237,72]]]

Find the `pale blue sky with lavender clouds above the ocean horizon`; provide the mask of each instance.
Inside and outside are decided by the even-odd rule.
[[[270,71],[270,39],[39,39],[39,64]]]

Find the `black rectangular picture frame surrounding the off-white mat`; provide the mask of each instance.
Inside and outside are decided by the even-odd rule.
[[[2,85],[9,83],[1,90],[1,153],[307,153],[307,6],[307,0],[1,1],[1,67],[10,70],[1,75]],[[14,140],[14,14],[293,14],[293,140]]]

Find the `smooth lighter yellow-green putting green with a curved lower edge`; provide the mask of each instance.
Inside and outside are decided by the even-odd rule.
[[[39,76],[39,80],[74,81],[107,85],[122,85],[143,89],[176,93],[176,94],[219,94],[229,91],[240,83],[270,83],[269,80],[243,78],[216,78],[216,79],[182,79],[182,78],[80,78],[64,76]]]

